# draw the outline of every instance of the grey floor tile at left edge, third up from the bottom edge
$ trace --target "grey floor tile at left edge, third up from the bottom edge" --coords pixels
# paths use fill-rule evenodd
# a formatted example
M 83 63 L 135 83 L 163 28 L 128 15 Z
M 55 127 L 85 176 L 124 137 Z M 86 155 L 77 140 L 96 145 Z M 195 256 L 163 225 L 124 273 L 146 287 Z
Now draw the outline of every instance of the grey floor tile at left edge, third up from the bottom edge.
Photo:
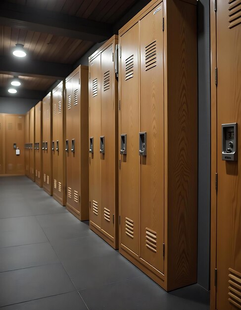
M 0 272 L 57 262 L 59 260 L 48 242 L 0 249 Z

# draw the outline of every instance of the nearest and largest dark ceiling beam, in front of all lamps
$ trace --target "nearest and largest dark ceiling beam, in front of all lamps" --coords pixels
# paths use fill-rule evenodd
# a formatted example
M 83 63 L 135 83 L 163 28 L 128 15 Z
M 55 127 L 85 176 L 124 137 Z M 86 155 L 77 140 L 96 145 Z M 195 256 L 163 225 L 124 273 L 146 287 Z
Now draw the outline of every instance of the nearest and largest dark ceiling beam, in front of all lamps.
M 106 23 L 4 0 L 0 1 L 0 24 L 92 42 L 104 41 L 112 35 L 110 25 Z

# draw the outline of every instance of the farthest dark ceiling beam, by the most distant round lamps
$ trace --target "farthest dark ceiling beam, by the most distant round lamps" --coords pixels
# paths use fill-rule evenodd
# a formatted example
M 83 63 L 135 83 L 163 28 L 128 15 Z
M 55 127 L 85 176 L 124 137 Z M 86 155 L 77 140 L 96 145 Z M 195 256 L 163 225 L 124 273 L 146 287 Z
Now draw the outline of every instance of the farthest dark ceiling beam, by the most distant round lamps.
M 18 88 L 16 94 L 9 94 L 7 89 L 8 87 L 0 87 L 0 97 L 42 100 L 47 94 L 44 91 L 36 91 L 23 88 Z

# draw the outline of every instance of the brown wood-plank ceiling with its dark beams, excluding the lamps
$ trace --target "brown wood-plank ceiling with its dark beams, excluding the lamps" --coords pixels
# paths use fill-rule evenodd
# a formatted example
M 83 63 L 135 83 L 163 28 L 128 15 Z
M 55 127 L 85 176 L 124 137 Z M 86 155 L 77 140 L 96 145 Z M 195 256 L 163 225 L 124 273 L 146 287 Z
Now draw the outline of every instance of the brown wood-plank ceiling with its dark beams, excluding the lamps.
M 0 0 L 0 96 L 13 75 L 22 80 L 21 96 L 47 92 L 140 2 L 148 0 Z M 15 44 L 24 45 L 26 58 L 12 56 Z

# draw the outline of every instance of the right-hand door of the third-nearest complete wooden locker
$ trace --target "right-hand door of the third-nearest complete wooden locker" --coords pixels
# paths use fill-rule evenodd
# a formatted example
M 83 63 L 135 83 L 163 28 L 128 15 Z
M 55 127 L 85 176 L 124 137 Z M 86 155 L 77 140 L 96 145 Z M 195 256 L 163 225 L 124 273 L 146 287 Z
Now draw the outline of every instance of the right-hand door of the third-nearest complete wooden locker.
M 74 152 L 71 151 L 72 159 L 72 207 L 75 212 L 80 214 L 80 182 L 81 182 L 81 169 L 80 169 L 80 73 L 77 72 L 73 77 L 72 94 L 73 94 L 73 106 L 72 106 L 72 133 L 70 146 L 74 148 Z M 83 86 L 84 88 L 84 86 Z M 73 142 L 72 142 L 73 140 Z M 83 193 L 84 195 L 84 193 Z

